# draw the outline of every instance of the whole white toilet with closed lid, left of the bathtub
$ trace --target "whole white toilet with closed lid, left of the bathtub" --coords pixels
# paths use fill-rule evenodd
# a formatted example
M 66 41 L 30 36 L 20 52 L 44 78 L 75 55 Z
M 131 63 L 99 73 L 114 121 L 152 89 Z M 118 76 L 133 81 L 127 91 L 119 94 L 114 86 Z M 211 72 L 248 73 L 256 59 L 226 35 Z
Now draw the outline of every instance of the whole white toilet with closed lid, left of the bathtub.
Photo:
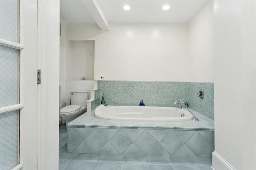
M 88 92 L 83 90 L 72 90 L 70 92 L 70 106 L 60 109 L 60 116 L 68 123 L 78 116 L 86 112 L 86 101 L 88 100 Z

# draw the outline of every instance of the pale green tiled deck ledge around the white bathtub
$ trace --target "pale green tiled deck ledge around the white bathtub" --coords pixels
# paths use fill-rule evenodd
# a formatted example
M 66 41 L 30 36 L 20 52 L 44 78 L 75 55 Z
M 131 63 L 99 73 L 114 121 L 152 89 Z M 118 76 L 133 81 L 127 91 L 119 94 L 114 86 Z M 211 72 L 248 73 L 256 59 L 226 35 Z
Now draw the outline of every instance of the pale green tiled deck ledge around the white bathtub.
M 112 128 L 112 129 L 163 129 L 163 130 L 182 130 L 182 131 L 214 131 L 214 121 L 208 117 L 194 111 L 190 111 L 200 121 L 120 121 L 100 119 L 94 116 L 95 109 L 86 112 L 68 123 L 68 129 L 71 127 L 79 128 Z

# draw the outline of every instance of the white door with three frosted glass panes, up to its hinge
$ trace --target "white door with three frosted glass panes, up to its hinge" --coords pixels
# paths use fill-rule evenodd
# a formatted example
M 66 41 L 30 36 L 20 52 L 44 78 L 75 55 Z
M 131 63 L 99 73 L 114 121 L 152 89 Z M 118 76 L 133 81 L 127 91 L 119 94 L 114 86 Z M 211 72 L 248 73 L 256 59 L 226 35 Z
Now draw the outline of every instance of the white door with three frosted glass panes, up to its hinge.
M 0 169 L 36 169 L 36 1 L 1 0 Z

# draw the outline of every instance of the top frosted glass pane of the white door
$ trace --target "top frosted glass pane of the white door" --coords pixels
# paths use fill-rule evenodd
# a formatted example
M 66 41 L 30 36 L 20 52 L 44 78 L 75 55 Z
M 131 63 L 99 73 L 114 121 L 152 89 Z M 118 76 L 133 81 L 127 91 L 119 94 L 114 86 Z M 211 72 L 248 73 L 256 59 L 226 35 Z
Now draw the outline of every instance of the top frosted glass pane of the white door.
M 0 0 L 0 38 L 19 43 L 19 1 Z

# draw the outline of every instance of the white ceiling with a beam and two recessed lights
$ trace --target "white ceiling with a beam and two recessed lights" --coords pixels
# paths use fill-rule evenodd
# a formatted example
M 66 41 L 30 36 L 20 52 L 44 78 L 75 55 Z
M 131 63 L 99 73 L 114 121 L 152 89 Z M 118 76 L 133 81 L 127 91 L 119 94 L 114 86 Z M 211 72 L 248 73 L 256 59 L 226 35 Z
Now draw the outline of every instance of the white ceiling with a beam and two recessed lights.
M 108 23 L 187 23 L 206 1 L 60 0 L 60 20 L 66 23 L 97 23 L 99 26 L 105 24 L 106 28 Z M 162 10 L 166 4 L 170 9 Z M 124 5 L 131 9 L 124 10 Z

